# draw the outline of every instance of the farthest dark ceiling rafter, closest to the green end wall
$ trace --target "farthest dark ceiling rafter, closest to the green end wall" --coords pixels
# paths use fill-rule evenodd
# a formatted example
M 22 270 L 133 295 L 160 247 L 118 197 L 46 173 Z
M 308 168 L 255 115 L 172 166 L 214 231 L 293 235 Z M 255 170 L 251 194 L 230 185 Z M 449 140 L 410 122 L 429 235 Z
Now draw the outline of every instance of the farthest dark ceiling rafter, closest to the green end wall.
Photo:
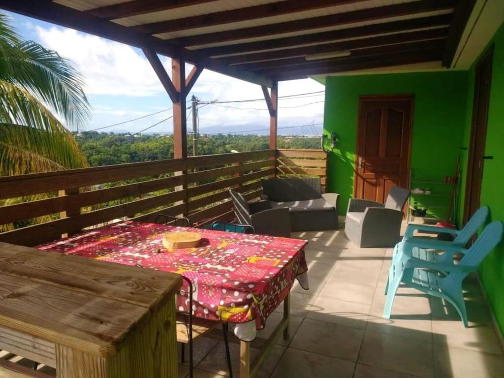
M 338 72 L 357 71 L 365 69 L 373 69 L 380 67 L 392 67 L 400 65 L 409 65 L 414 63 L 423 63 L 428 61 L 441 60 L 443 57 L 443 49 L 433 49 L 424 51 L 422 54 L 409 51 L 406 53 L 394 53 L 390 55 L 379 55 L 375 58 L 365 60 L 356 59 L 354 61 L 346 61 L 344 63 L 329 63 L 320 65 L 317 68 L 302 69 L 302 70 L 287 70 L 283 69 L 280 73 L 274 72 L 274 77 L 277 80 L 295 80 L 306 78 L 311 75 L 334 74 Z

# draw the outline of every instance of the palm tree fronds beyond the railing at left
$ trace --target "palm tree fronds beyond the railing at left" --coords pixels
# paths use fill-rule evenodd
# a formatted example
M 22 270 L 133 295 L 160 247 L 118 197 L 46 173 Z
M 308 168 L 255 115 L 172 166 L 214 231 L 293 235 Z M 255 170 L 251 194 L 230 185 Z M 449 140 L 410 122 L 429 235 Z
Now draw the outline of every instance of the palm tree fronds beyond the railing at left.
M 0 14 L 0 176 L 88 166 L 70 131 L 90 118 L 82 76 Z

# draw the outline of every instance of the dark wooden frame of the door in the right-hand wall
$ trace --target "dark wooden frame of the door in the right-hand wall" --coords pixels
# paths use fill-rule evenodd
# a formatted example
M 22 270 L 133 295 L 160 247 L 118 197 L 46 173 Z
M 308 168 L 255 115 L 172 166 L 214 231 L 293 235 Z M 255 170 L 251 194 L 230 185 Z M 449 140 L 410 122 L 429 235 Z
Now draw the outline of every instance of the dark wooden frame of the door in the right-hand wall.
M 477 100 L 479 99 L 480 96 L 480 88 L 479 86 L 476 86 L 476 83 L 479 82 L 480 80 L 480 71 L 479 68 L 481 67 L 483 61 L 488 58 L 489 56 L 492 58 L 491 65 L 490 65 L 490 75 L 493 73 L 493 47 L 494 45 L 492 44 L 481 56 L 481 58 L 478 60 L 476 67 L 475 67 L 475 75 L 474 75 L 474 90 L 473 90 L 473 104 L 472 104 L 472 118 L 471 118 L 471 136 L 469 139 L 469 150 L 468 150 L 468 157 L 467 157 L 467 169 L 466 169 L 466 186 L 465 186 L 465 194 L 464 194 L 464 216 L 462 219 L 462 224 L 466 224 L 467 221 L 470 218 L 469 215 L 469 208 L 470 208 L 470 199 L 472 196 L 472 184 L 473 184 L 473 169 L 474 165 L 476 164 L 475 161 L 475 143 L 476 143 L 476 121 L 477 121 L 477 114 L 476 114 L 476 106 L 477 106 Z M 490 81 L 490 89 L 491 89 L 491 81 Z M 490 93 L 488 94 L 488 99 L 490 99 Z M 488 107 L 490 106 L 490 101 L 488 101 Z M 488 109 L 487 109 L 488 112 Z M 486 119 L 486 125 L 485 125 L 485 148 L 486 148 L 486 128 L 488 127 L 488 115 Z M 479 202 L 480 199 L 478 199 Z

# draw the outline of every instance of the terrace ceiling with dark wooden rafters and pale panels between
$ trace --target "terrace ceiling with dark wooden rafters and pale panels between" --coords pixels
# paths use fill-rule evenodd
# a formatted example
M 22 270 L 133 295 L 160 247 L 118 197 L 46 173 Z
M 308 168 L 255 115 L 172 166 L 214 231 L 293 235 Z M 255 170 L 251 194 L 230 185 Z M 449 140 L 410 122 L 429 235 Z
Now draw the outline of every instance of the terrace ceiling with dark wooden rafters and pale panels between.
M 450 68 L 474 3 L 0 0 L 0 7 L 272 87 L 276 80 L 432 61 Z

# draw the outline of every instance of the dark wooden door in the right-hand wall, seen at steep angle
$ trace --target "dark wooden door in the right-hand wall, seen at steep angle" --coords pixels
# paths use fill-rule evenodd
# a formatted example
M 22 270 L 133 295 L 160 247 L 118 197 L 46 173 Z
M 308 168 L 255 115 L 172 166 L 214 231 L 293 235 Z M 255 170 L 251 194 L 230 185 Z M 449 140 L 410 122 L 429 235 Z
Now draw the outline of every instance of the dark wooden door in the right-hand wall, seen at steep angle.
M 493 53 L 492 49 L 490 49 L 476 66 L 464 223 L 479 208 L 481 180 L 483 178 L 483 157 L 485 155 L 486 125 L 488 122 L 488 105 L 490 102 L 490 83 L 492 80 L 492 58 Z

